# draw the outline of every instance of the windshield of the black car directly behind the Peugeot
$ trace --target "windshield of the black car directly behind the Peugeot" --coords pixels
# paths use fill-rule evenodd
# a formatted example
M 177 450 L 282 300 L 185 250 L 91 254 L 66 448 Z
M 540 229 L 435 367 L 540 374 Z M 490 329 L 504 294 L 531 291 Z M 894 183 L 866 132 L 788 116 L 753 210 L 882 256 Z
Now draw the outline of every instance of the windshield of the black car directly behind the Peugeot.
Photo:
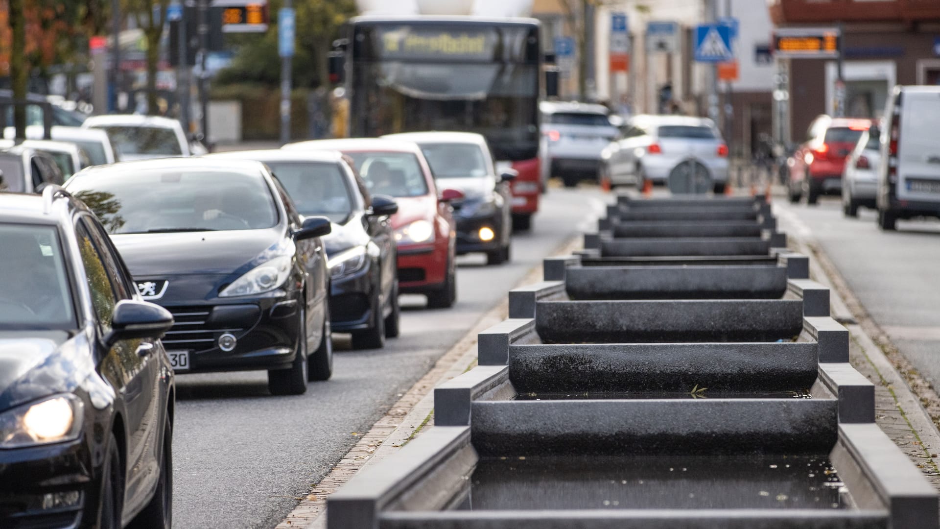
M 352 214 L 352 195 L 337 164 L 328 162 L 267 162 L 297 211 L 338 220 Z

